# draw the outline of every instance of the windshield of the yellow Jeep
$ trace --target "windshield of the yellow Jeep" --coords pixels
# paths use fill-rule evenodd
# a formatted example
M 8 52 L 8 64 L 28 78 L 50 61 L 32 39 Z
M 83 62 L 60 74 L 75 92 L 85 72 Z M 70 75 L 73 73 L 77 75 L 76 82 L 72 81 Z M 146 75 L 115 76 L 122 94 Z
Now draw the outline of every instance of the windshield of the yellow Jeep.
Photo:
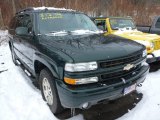
M 112 18 L 110 19 L 110 25 L 113 30 L 121 28 L 136 29 L 132 19 Z

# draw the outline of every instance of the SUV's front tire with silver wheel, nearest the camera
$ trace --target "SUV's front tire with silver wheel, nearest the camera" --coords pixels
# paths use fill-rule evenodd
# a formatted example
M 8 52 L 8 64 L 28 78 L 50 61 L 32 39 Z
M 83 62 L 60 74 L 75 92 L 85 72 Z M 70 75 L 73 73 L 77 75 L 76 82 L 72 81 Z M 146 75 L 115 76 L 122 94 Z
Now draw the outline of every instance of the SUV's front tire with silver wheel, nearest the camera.
M 39 83 L 43 99 L 47 102 L 53 114 L 63 110 L 57 94 L 55 80 L 48 69 L 43 69 L 40 72 Z

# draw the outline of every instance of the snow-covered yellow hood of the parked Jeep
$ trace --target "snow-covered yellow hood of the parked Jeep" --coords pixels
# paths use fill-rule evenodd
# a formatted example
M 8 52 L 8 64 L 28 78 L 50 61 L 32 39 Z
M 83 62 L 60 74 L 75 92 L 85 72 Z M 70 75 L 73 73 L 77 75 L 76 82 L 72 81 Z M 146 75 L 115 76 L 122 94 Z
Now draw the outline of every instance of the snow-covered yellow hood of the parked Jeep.
M 145 41 L 159 40 L 160 41 L 159 35 L 143 33 L 138 30 L 126 30 L 126 31 L 116 30 L 113 32 L 113 34 L 131 39 L 131 40 L 145 40 Z

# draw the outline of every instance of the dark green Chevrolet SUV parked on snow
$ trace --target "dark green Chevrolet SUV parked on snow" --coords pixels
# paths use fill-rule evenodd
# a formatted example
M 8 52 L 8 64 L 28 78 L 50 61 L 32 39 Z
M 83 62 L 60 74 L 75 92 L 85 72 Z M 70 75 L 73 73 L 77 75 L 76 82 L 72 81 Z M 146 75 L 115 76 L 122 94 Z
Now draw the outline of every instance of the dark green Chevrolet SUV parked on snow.
M 39 83 L 53 113 L 129 94 L 149 71 L 143 45 L 104 36 L 81 12 L 21 10 L 11 20 L 9 33 L 13 62 Z

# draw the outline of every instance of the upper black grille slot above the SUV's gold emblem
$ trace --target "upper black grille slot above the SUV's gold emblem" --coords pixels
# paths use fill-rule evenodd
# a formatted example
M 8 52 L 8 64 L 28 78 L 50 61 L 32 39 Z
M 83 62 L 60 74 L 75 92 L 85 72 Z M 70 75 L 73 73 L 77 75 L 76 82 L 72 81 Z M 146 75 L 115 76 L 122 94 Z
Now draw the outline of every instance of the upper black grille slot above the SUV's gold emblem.
M 114 67 L 114 66 L 124 65 L 124 64 L 134 62 L 134 61 L 140 59 L 141 57 L 142 57 L 142 54 L 138 54 L 138 55 L 134 55 L 131 57 L 122 58 L 122 59 L 118 59 L 118 60 L 100 62 L 99 65 L 101 68 L 109 68 L 109 67 Z

